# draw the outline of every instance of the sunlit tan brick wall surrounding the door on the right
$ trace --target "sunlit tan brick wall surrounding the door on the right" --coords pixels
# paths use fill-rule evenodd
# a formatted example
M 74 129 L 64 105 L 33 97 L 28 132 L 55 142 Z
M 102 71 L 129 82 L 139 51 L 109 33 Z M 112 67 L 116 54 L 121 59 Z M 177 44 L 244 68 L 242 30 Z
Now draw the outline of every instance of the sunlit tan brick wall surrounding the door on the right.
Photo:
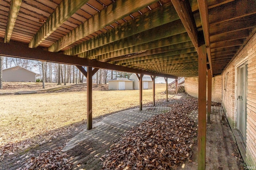
M 247 129 L 246 129 L 246 164 L 256 166 L 256 34 L 238 53 L 232 63 L 222 72 L 223 82 L 228 74 L 224 101 L 228 121 L 236 128 L 236 69 L 240 64 L 248 64 L 247 90 Z M 223 84 L 224 86 L 224 84 Z M 224 90 L 224 88 L 223 88 Z M 224 93 L 223 93 L 224 94 Z

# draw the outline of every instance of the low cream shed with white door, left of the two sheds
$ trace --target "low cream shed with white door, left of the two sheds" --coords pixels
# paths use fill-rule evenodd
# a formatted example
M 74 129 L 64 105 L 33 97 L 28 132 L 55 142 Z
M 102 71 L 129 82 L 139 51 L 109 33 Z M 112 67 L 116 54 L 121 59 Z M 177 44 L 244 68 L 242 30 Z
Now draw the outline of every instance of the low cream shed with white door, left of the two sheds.
M 109 90 L 132 90 L 132 82 L 133 80 L 129 80 L 128 78 L 113 78 L 108 80 L 108 89 Z

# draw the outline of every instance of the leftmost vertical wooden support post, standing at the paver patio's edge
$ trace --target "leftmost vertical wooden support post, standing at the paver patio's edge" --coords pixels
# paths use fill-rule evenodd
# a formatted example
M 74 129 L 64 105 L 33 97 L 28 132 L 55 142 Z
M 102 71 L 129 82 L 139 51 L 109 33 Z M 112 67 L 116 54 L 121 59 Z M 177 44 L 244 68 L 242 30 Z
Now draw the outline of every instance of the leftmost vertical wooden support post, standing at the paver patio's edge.
M 87 66 L 87 129 L 92 129 L 92 67 Z

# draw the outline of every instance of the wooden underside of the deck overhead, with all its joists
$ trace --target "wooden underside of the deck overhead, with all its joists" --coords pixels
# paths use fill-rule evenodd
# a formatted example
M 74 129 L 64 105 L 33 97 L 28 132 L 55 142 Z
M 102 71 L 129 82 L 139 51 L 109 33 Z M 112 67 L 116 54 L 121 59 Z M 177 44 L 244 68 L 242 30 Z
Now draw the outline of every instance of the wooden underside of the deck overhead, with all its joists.
M 221 74 L 256 32 L 255 0 L 11 2 L 0 1 L 0 55 L 169 78 L 198 75 L 202 44 Z

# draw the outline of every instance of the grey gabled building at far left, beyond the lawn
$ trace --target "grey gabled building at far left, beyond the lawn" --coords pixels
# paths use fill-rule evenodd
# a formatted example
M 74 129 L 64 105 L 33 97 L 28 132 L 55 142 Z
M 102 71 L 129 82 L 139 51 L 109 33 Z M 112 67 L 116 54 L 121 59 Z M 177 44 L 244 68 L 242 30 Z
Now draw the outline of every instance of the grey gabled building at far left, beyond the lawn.
M 21 66 L 14 66 L 3 69 L 3 82 L 36 82 L 35 72 L 27 70 Z

